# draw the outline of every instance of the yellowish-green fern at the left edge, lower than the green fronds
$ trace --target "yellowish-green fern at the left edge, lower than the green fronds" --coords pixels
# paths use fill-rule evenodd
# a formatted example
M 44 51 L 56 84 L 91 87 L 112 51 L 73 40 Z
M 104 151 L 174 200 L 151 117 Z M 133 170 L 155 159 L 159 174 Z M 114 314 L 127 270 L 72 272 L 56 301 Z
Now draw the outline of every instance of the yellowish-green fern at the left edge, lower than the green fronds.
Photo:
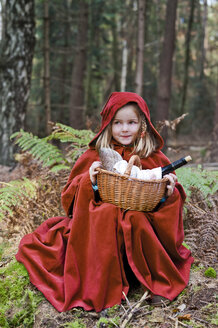
M 19 205 L 26 198 L 36 197 L 37 184 L 27 178 L 15 180 L 10 183 L 0 182 L 0 219 L 3 219 L 6 213 L 13 215 L 12 207 Z

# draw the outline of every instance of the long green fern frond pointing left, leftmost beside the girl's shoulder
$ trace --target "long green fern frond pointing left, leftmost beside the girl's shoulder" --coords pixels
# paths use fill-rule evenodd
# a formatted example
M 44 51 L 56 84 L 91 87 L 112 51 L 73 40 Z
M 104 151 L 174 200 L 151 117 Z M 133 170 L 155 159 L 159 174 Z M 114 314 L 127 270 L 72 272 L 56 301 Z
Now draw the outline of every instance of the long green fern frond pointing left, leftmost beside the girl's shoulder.
M 60 149 L 48 142 L 48 138 L 38 138 L 32 133 L 20 130 L 11 136 L 23 151 L 28 151 L 35 159 L 42 162 L 43 166 L 64 165 L 69 169 L 69 163 Z

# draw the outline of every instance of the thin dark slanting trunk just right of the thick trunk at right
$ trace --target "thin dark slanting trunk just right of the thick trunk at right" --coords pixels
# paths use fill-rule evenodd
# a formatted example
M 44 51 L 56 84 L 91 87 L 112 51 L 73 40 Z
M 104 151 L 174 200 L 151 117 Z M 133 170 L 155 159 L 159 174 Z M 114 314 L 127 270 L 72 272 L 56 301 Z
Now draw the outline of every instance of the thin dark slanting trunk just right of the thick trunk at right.
M 195 2 L 196 0 L 191 0 L 191 8 L 190 8 L 190 16 L 188 21 L 188 29 L 186 34 L 186 41 L 185 41 L 185 64 L 184 64 L 184 78 L 183 78 L 183 87 L 182 87 L 182 101 L 179 116 L 184 113 L 184 107 L 186 102 L 186 94 L 187 94 L 187 87 L 188 87 L 188 70 L 189 70 L 189 62 L 190 62 L 190 41 L 191 41 L 191 32 L 192 32 L 192 25 L 194 19 L 194 9 L 195 9 Z

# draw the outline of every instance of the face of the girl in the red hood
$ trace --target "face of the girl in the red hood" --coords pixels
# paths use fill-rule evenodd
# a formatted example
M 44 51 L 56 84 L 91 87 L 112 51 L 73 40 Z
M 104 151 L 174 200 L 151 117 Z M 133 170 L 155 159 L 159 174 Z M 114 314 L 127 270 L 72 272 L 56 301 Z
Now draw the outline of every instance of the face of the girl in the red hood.
M 141 120 L 134 105 L 120 108 L 112 121 L 112 136 L 122 145 L 130 145 L 136 140 Z

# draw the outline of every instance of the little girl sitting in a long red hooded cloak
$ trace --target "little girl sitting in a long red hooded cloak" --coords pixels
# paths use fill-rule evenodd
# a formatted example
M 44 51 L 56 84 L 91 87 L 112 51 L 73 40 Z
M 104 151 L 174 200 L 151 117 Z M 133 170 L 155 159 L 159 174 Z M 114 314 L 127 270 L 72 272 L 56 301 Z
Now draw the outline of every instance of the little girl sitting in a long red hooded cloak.
M 193 262 L 182 245 L 185 193 L 174 174 L 168 175 L 165 199 L 151 212 L 123 210 L 95 197 L 102 147 L 127 161 L 139 155 L 142 169 L 169 164 L 140 96 L 114 92 L 101 115 L 99 133 L 62 192 L 67 217 L 50 218 L 26 235 L 16 255 L 60 312 L 73 307 L 98 312 L 120 304 L 133 277 L 150 291 L 153 305 L 170 302 L 186 287 Z

